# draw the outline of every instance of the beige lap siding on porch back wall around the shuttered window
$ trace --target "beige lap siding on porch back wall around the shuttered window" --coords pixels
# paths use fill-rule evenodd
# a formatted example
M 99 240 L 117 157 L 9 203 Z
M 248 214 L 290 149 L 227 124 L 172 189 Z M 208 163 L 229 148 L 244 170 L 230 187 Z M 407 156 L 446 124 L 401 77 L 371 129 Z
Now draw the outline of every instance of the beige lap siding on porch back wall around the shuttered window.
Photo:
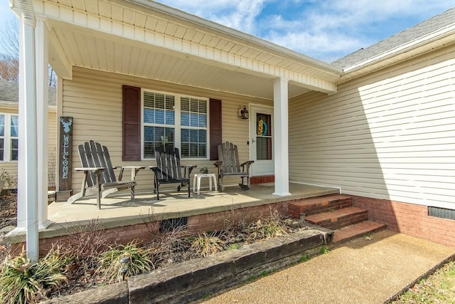
M 249 103 L 272 104 L 270 100 L 75 67 L 73 80 L 63 80 L 63 115 L 74 117 L 73 167 L 80 166 L 77 145 L 87 140 L 99 141 L 107 146 L 112 163 L 116 166 L 154 164 L 154 160 L 122 162 L 122 85 L 222 100 L 223 141 L 231 141 L 239 146 L 240 161 L 249 159 L 247 146 L 249 120 L 242 120 L 239 117 L 240 106 Z M 205 159 L 182 159 L 182 164 L 197 164 L 198 167 L 193 170 L 196 173 L 200 167 L 208 167 L 209 172 L 215 173 L 213 163 L 214 161 Z M 125 174 L 125 177 L 129 177 L 130 173 Z M 82 174 L 73 173 L 73 189 L 80 189 L 81 182 Z M 202 182 L 202 187 L 208 186 L 208 179 L 203 179 Z M 234 183 L 238 183 L 237 179 L 226 179 L 225 184 Z M 173 185 L 169 187 L 175 188 Z M 153 173 L 150 169 L 139 172 L 137 189 L 138 191 L 153 189 Z

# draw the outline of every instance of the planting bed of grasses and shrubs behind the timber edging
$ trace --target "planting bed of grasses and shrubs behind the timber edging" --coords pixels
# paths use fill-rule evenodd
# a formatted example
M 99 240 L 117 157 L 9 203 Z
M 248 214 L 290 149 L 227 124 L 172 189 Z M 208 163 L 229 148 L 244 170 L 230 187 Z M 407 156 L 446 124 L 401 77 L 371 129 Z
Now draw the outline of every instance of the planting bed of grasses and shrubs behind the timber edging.
M 0 302 L 36 303 L 41 298 L 70 295 L 191 258 L 240 248 L 244 243 L 286 236 L 291 230 L 289 219 L 276 209 L 270 209 L 261 220 L 250 219 L 250 209 L 226 211 L 223 231 L 196 236 L 189 234 L 186 225 L 158 225 L 155 221 L 147 226 L 152 236 L 149 243 L 118 246 L 108 246 L 97 219 L 85 226 L 65 224 L 71 237 L 58 243 L 60 251 L 50 251 L 36 264 L 26 260 L 24 253 L 11 258 L 8 247 L 0 247 L 0 256 L 8 256 L 0 270 Z M 129 258 L 124 276 L 119 263 L 122 257 Z M 63 286 L 65 282 L 68 284 Z

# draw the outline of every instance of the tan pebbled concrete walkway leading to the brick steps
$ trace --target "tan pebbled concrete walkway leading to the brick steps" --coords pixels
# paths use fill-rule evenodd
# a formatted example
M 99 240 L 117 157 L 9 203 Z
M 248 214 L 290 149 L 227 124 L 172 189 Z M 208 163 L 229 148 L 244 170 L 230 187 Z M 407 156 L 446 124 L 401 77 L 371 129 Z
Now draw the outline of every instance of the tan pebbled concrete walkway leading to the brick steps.
M 454 254 L 385 230 L 200 303 L 384 303 Z

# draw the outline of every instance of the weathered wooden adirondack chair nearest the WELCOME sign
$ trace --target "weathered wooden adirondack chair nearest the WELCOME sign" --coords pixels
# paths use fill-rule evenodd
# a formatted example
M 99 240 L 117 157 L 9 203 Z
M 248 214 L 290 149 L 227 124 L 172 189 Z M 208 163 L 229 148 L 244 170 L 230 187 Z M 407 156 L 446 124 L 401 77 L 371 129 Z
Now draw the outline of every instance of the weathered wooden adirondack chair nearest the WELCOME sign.
M 97 194 L 97 206 L 98 209 L 101 209 L 102 197 L 104 198 L 108 194 L 124 189 L 130 189 L 131 201 L 134 201 L 134 187 L 136 186 L 134 179 L 137 172 L 140 169 L 144 169 L 145 166 L 120 167 L 117 181 L 114 174 L 114 169 L 117 169 L 117 167 L 112 167 L 107 147 L 102 146 L 99 142 L 90 140 L 90 142 L 79 145 L 78 152 L 82 167 L 75 168 L 75 170 L 84 172 L 84 179 L 82 179 L 80 192 L 70 196 L 68 202 L 73 204 L 73 202 L 83 196 Z M 132 169 L 131 180 L 122 181 L 124 169 Z

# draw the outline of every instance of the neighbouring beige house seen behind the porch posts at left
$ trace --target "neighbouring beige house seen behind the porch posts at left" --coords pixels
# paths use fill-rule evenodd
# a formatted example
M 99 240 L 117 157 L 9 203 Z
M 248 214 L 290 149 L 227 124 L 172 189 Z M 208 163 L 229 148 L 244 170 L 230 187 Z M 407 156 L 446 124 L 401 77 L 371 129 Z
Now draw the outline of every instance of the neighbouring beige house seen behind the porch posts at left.
M 17 179 L 18 165 L 18 100 L 19 85 L 0 80 L 0 173 L 6 172 Z M 55 187 L 55 142 L 56 142 L 56 103 L 55 88 L 48 89 L 49 98 L 49 186 Z M 16 184 L 5 184 L 4 188 L 13 189 Z

